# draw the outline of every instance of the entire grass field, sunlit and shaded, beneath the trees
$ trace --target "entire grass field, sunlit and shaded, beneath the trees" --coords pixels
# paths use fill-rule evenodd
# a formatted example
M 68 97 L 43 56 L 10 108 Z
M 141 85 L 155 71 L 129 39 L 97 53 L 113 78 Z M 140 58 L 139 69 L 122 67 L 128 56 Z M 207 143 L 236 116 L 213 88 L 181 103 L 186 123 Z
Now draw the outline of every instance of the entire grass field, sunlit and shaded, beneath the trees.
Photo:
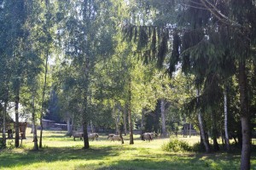
M 171 153 L 161 150 L 168 139 L 154 139 L 148 143 L 135 135 L 135 144 L 110 142 L 107 135 L 100 135 L 98 141 L 90 141 L 90 149 L 83 150 L 83 142 L 65 137 L 65 132 L 44 131 L 44 148 L 32 151 L 32 134 L 27 129 L 27 139 L 22 147 L 15 149 L 8 140 L 9 148 L 0 150 L 0 169 L 239 169 L 240 152 L 226 154 Z M 179 139 L 183 139 L 179 137 Z M 189 144 L 198 142 L 198 137 L 185 138 Z M 252 169 L 256 170 L 256 154 L 252 153 Z

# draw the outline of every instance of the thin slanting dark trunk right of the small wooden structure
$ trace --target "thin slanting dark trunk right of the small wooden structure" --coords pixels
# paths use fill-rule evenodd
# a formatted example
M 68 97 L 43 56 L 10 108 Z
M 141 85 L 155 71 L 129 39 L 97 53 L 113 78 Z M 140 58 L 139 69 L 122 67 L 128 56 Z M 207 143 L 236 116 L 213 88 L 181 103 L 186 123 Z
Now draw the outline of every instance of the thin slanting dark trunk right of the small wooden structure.
M 42 94 L 42 109 L 40 114 L 40 139 L 39 139 L 39 148 L 42 148 L 42 140 L 43 140 L 43 115 L 44 115 L 44 96 L 46 90 L 46 81 L 47 81 L 47 73 L 48 73 L 48 55 L 49 52 L 46 53 L 45 65 L 44 65 L 44 87 L 43 87 L 43 94 Z

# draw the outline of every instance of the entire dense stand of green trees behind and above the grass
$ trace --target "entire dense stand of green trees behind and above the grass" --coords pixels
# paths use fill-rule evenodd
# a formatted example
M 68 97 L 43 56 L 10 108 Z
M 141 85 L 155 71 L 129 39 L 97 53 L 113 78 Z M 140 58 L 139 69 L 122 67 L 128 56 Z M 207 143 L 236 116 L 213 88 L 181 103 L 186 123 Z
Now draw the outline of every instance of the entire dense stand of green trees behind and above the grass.
M 254 0 L 0 0 L 0 124 L 9 104 L 30 115 L 34 149 L 43 118 L 159 133 L 183 125 L 206 152 L 241 147 L 250 168 L 256 131 Z M 36 127 L 40 127 L 38 134 Z M 212 144 L 210 144 L 210 140 Z

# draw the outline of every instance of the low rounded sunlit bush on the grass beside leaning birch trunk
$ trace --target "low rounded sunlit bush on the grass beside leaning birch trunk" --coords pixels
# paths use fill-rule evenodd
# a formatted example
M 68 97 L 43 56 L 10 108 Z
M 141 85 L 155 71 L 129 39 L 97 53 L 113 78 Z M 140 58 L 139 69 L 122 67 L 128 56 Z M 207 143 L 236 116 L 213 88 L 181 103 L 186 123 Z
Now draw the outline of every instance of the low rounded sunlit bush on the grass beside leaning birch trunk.
M 191 147 L 189 144 L 183 140 L 170 139 L 167 144 L 162 145 L 162 150 L 166 151 L 190 151 Z

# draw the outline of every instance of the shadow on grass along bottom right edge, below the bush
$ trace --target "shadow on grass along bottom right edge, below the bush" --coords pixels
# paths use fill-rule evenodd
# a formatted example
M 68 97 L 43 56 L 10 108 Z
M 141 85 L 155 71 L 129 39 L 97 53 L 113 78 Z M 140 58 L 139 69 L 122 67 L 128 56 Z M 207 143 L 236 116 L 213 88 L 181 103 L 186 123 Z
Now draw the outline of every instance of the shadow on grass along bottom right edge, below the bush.
M 155 156 L 139 156 L 136 159 L 115 161 L 111 165 L 98 167 L 91 167 L 91 169 L 97 170 L 140 170 L 140 169 L 239 169 L 238 162 L 230 157 L 227 160 L 217 160 L 214 156 L 207 156 L 207 159 L 201 159 L 205 155 L 175 155 L 170 154 L 170 159 L 160 159 L 160 155 Z M 75 169 L 84 169 L 83 165 L 76 166 Z M 88 165 L 87 165 L 88 168 Z M 90 169 L 90 168 L 89 168 Z

